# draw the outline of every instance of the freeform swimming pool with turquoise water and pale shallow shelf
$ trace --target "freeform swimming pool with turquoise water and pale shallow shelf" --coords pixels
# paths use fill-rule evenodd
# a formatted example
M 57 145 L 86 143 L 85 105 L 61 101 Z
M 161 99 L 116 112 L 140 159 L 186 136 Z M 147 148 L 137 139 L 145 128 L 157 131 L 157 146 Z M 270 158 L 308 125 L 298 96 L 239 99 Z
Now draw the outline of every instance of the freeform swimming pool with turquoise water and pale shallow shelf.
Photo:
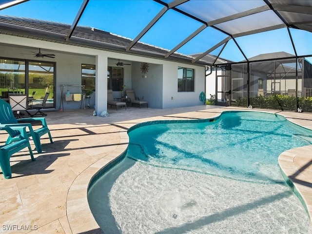
M 277 158 L 311 144 L 284 117 L 150 122 L 129 131 L 126 158 L 89 189 L 105 233 L 311 233 Z

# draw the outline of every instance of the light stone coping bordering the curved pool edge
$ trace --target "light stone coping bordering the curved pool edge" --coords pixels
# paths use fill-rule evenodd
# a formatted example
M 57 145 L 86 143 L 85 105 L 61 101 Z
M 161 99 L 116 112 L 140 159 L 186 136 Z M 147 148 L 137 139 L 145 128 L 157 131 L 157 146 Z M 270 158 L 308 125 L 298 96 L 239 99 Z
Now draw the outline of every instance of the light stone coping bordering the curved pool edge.
M 295 118 L 287 117 L 289 113 L 280 113 L 279 111 L 273 110 L 246 110 L 246 109 L 224 109 L 220 112 L 224 111 L 256 111 L 256 112 L 264 112 L 271 114 L 278 114 L 283 117 L 286 117 L 290 122 L 293 122 L 299 126 Z M 203 111 L 205 112 L 205 111 Z M 219 117 L 221 113 L 216 113 L 215 117 Z M 286 114 L 286 115 L 285 115 Z M 209 117 L 210 118 L 210 117 Z M 167 118 L 168 119 L 168 118 Z M 187 117 L 185 117 L 187 119 Z M 131 128 L 138 123 L 147 122 L 153 120 L 162 120 L 160 119 L 149 119 L 149 120 L 141 120 L 136 123 L 128 123 L 127 127 Z M 173 118 L 173 120 L 175 120 Z M 303 126 L 304 127 L 304 126 Z M 307 127 L 306 127 L 307 128 Z M 89 207 L 88 199 L 87 199 L 87 191 L 90 182 L 97 176 L 98 172 L 106 167 L 109 163 L 114 161 L 116 158 L 121 156 L 127 149 L 129 143 L 129 137 L 127 131 L 124 129 L 119 130 L 120 141 L 117 145 L 117 148 L 110 153 L 109 155 L 103 155 L 98 161 L 87 167 L 83 172 L 81 172 L 76 179 L 73 181 L 70 189 L 68 190 L 67 198 L 66 198 L 66 213 L 69 226 L 73 234 L 78 233 L 90 233 L 100 234 L 103 231 L 98 226 L 94 216 Z M 281 168 L 281 171 L 289 178 L 291 183 L 293 184 L 295 190 L 301 196 L 304 205 L 306 206 L 308 215 L 312 217 L 312 179 L 307 177 L 307 174 L 312 172 L 312 157 L 309 159 L 307 157 L 307 152 L 311 154 L 312 145 L 294 148 L 288 151 L 283 152 L 278 157 L 278 163 Z M 310 176 L 310 178 L 312 178 Z M 296 195 L 298 195 L 296 194 Z M 299 198 L 300 198 L 299 196 Z

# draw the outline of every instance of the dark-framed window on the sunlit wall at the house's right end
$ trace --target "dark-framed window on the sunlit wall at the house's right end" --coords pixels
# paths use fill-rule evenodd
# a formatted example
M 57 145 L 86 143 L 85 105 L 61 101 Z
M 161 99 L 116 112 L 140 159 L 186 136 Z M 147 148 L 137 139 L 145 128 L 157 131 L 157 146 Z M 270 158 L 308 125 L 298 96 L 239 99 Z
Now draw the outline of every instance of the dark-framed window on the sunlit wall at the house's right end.
M 194 69 L 177 68 L 177 91 L 194 92 Z

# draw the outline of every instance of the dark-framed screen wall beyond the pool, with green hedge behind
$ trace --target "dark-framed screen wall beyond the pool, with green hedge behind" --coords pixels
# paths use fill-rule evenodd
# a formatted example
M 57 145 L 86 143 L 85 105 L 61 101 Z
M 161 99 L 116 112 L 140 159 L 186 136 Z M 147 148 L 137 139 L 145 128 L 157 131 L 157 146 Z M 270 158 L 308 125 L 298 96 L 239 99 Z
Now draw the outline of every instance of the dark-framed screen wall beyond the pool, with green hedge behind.
M 305 58 L 216 66 L 216 104 L 312 112 L 312 64 Z

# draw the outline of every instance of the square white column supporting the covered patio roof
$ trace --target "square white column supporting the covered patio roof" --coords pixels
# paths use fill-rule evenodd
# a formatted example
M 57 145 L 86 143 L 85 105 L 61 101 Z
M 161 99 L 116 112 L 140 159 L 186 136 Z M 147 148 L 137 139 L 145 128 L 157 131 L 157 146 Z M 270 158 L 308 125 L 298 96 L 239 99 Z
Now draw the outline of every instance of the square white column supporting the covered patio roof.
M 107 56 L 96 56 L 96 112 L 100 115 L 107 111 Z

